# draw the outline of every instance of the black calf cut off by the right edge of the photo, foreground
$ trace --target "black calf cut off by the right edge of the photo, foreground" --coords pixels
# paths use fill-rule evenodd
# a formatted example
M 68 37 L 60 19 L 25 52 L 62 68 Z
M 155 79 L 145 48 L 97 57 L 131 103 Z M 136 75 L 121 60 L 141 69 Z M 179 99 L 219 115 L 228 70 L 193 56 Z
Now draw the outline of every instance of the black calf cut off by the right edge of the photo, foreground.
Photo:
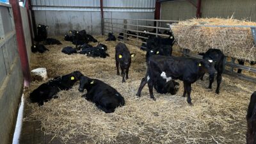
M 246 143 L 255 144 L 256 143 L 256 91 L 252 93 L 250 104 L 248 106 L 246 120 L 247 120 Z

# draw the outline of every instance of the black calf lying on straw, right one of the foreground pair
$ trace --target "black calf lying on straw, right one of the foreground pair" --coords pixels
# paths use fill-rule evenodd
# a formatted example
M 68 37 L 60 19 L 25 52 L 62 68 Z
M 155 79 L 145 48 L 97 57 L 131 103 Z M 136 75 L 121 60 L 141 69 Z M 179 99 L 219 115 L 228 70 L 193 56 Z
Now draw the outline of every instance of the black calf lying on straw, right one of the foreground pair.
M 86 76 L 81 77 L 79 92 L 83 92 L 84 88 L 87 93 L 82 97 L 94 102 L 105 113 L 113 113 L 115 108 L 125 104 L 124 97 L 115 88 L 98 79 L 90 79 Z

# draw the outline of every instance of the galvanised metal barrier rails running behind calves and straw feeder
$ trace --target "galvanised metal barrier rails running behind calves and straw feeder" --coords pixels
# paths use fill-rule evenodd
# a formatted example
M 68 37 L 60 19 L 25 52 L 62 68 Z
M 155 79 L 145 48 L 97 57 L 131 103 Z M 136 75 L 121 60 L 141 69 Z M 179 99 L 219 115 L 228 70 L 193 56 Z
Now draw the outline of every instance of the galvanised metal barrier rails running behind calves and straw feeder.
M 103 35 L 108 35 L 108 33 L 113 33 L 116 38 L 122 37 L 122 39 L 117 38 L 118 40 L 122 40 L 124 43 L 126 44 L 131 44 L 131 45 L 136 45 L 137 47 L 141 47 L 141 44 L 146 44 L 146 42 L 143 40 L 141 40 L 141 38 L 144 38 L 147 40 L 147 37 L 145 36 L 141 36 L 140 33 L 147 33 L 150 35 L 156 35 L 157 36 L 169 36 L 169 35 L 165 35 L 165 34 L 161 34 L 163 33 L 163 31 L 167 30 L 170 31 L 170 28 L 168 28 L 168 26 L 166 24 L 173 24 L 175 22 L 179 22 L 177 20 L 152 20 L 152 19 L 109 19 L 109 18 L 104 18 L 102 20 L 103 24 L 103 28 L 102 28 L 102 33 Z M 230 26 L 232 27 L 232 26 Z M 248 27 L 248 26 L 244 26 L 244 27 Z M 147 31 L 145 31 L 147 29 Z M 154 32 L 150 32 L 148 31 L 148 29 L 153 29 Z M 252 34 L 253 34 L 253 38 L 256 41 L 256 32 L 253 33 L 253 31 L 255 31 L 255 28 L 251 28 L 252 29 Z M 127 31 L 132 31 L 135 32 L 136 35 L 131 35 L 129 33 L 127 33 Z M 159 31 L 161 31 L 161 33 L 159 33 Z M 123 36 L 120 36 L 119 33 L 124 33 Z M 134 36 L 136 38 L 129 38 L 129 36 Z M 255 42 L 256 44 L 256 42 Z M 191 54 L 188 49 L 186 49 L 185 47 L 182 47 L 182 51 L 178 51 L 178 52 L 182 52 L 183 56 L 189 56 L 192 58 L 198 58 L 198 59 L 202 59 L 202 56 L 198 55 L 198 54 Z M 234 71 L 234 68 L 239 68 L 241 70 L 246 70 L 249 73 L 255 74 L 256 76 L 256 68 L 253 68 L 252 66 L 248 67 L 245 65 L 239 65 L 237 63 L 235 63 L 236 59 L 235 58 L 230 58 L 231 61 L 227 61 L 227 57 L 225 57 L 224 59 L 224 74 L 228 74 L 230 76 L 233 77 L 238 77 L 239 79 L 244 79 L 246 81 L 252 81 L 254 83 L 256 83 L 256 77 L 253 76 L 247 76 L 244 74 L 237 74 L 237 72 Z

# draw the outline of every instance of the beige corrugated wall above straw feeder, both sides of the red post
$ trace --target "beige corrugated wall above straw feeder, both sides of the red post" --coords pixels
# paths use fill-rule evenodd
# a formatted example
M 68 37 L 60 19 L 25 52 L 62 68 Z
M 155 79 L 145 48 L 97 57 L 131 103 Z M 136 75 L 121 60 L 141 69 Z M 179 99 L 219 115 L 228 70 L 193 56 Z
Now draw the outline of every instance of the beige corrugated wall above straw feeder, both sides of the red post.
M 193 0 L 197 4 L 197 0 Z M 202 0 L 202 17 L 231 17 L 256 21 L 255 0 Z M 196 17 L 196 8 L 188 1 L 161 2 L 161 19 L 186 20 Z

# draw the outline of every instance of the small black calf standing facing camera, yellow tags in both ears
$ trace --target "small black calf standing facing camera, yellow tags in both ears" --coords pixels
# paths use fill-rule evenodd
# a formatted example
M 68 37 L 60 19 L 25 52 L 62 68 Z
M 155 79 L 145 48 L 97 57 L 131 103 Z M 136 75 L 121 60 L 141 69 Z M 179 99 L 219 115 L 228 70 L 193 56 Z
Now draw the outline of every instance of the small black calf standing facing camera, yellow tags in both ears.
M 119 64 L 120 64 L 120 68 L 121 68 L 121 74 L 123 77 L 122 82 L 125 82 L 125 79 L 128 79 L 128 73 L 129 73 L 129 67 L 131 66 L 131 57 L 134 57 L 135 54 L 130 54 L 129 49 L 126 47 L 125 44 L 122 43 L 118 43 L 116 45 L 116 54 L 115 54 L 115 58 L 116 58 L 116 70 L 117 70 L 117 75 L 120 75 L 119 72 Z M 126 74 L 126 77 L 125 77 Z M 125 79 L 124 79 L 125 77 Z

